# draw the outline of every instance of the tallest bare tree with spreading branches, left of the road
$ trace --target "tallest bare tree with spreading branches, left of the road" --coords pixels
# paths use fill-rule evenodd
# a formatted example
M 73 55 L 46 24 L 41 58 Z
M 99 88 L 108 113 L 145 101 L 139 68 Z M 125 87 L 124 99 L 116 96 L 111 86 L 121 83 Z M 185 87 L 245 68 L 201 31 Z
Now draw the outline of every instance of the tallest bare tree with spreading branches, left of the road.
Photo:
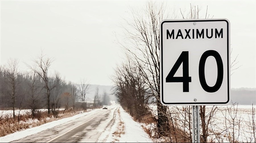
M 47 107 L 48 107 L 48 114 L 50 114 L 50 93 L 51 90 L 55 87 L 53 86 L 49 86 L 49 76 L 48 76 L 48 70 L 49 67 L 51 66 L 51 63 L 53 62 L 53 58 L 48 58 L 45 55 L 43 55 L 43 53 L 41 53 L 41 56 L 38 57 L 38 59 L 34 60 L 34 63 L 36 64 L 34 67 L 29 66 L 28 67 L 36 72 L 44 81 L 44 88 L 47 90 Z

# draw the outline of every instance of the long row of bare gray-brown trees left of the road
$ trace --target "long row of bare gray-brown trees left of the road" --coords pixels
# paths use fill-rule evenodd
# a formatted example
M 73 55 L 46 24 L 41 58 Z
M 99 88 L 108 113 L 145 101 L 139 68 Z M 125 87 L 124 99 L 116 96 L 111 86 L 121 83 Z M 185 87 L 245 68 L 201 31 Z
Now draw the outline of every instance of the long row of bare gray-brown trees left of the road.
M 60 108 L 66 110 L 109 105 L 110 98 L 106 92 L 98 95 L 97 104 L 86 101 L 90 83 L 81 80 L 79 84 L 67 82 L 55 72 L 49 75 L 52 58 L 41 55 L 33 65 L 27 65 L 29 71 L 18 69 L 18 60 L 9 59 L 6 65 L 0 66 L 0 109 L 31 109 L 32 117 L 38 109 L 48 109 L 48 114 L 57 117 Z

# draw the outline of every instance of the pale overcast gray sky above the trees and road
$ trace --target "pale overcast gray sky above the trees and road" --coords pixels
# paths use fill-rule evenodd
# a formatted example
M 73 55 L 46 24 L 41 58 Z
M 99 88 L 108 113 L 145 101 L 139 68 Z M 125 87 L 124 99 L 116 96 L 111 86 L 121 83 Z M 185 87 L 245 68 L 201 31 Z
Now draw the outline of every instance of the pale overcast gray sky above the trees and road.
M 144 8 L 147 1 L 2 1 L 1 65 L 8 58 L 24 63 L 41 53 L 54 57 L 52 70 L 67 81 L 112 85 L 113 69 L 122 60 L 116 35 L 129 16 L 129 7 Z M 242 65 L 231 76 L 231 87 L 256 86 L 256 20 L 255 1 L 168 1 L 166 7 L 189 10 L 199 5 L 203 18 L 227 18 L 231 25 L 231 57 L 238 56 Z M 178 13 L 179 16 L 180 13 Z M 232 58 L 231 58 L 232 59 Z

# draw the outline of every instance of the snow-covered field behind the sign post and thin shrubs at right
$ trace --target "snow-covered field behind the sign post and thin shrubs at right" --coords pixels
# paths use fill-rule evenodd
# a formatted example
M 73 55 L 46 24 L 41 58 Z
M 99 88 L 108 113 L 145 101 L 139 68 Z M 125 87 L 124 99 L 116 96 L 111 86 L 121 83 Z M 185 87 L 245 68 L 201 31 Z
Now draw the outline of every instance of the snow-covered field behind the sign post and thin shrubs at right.
M 188 119 L 188 116 L 186 116 L 185 119 L 184 114 L 182 114 L 184 113 L 183 107 L 185 106 L 169 106 L 173 118 L 176 118 L 177 121 L 180 122 L 180 125 L 183 124 L 184 120 Z M 212 107 L 213 106 L 206 106 L 206 121 L 208 120 L 208 113 Z M 253 105 L 253 108 L 255 109 L 256 106 Z M 156 105 L 150 106 L 150 109 L 152 109 L 154 115 L 157 114 Z M 208 140 L 213 140 L 213 142 L 232 142 L 233 138 L 231 136 L 234 136 L 235 142 L 236 140 L 238 142 L 254 142 L 253 129 L 251 127 L 253 119 L 252 105 L 217 106 L 216 112 L 214 113 L 208 125 L 210 130 Z M 255 110 L 254 114 L 256 114 Z M 255 116 L 254 120 L 256 120 Z

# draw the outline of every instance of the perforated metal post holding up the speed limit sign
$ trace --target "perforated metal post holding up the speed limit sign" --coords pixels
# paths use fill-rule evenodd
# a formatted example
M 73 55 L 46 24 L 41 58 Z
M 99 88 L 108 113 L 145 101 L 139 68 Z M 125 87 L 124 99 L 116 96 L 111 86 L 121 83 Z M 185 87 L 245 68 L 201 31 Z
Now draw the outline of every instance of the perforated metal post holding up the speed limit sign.
M 192 142 L 200 142 L 199 106 L 192 106 Z

